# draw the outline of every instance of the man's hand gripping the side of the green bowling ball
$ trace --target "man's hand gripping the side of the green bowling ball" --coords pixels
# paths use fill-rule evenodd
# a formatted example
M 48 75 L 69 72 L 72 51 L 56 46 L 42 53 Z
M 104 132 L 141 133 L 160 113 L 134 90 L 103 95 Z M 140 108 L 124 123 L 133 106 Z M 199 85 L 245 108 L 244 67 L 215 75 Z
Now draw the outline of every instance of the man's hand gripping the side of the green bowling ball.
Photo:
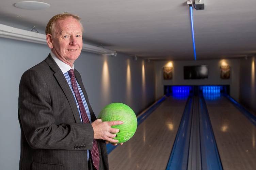
M 123 121 L 118 120 L 102 122 L 101 119 L 96 119 L 94 122 L 92 122 L 94 139 L 103 139 L 109 142 L 117 143 L 118 140 L 113 138 L 116 137 L 115 133 L 118 133 L 119 129 L 111 128 L 111 126 L 123 123 Z

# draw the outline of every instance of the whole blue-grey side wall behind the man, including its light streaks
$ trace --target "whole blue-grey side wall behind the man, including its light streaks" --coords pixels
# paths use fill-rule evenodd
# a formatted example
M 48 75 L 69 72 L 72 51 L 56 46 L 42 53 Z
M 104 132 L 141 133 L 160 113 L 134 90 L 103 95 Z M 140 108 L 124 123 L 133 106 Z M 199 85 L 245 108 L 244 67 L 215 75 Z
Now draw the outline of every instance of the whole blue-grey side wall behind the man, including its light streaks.
M 18 86 L 22 73 L 43 61 L 48 46 L 0 38 L 0 169 L 17 170 L 20 156 L 18 123 Z M 139 114 L 155 102 L 155 66 L 153 62 L 82 52 L 75 62 L 90 103 L 97 116 L 112 102 L 129 105 Z

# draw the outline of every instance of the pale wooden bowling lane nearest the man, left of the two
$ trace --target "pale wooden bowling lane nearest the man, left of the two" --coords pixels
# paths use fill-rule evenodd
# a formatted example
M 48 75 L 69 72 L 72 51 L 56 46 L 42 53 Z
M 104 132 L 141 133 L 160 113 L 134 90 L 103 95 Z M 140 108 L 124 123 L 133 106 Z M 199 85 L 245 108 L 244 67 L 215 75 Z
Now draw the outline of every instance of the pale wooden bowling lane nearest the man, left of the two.
M 108 156 L 111 170 L 164 170 L 186 105 L 167 97 L 137 128 L 134 136 Z

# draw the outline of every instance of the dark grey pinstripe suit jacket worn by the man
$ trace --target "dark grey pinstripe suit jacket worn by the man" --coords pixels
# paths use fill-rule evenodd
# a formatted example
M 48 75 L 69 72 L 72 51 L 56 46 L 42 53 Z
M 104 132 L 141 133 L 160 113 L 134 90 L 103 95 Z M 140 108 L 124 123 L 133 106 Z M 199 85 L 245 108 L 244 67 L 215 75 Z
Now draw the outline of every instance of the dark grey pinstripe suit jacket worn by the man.
M 81 76 L 76 79 L 96 120 Z M 93 128 L 81 123 L 70 87 L 52 57 L 27 70 L 19 85 L 20 170 L 85 170 Z M 100 169 L 108 168 L 105 141 L 97 140 Z

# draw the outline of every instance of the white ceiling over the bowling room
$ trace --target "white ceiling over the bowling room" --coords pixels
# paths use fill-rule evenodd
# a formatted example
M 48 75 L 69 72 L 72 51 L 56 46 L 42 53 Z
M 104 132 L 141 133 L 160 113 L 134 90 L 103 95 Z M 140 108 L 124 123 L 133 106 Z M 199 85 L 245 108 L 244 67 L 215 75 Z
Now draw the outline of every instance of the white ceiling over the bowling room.
M 0 0 L 1 24 L 44 33 L 53 15 L 69 12 L 82 18 L 84 43 L 150 60 L 194 60 L 186 0 L 42 0 L 51 5 L 44 10 L 16 2 Z M 205 0 L 193 20 L 197 60 L 256 55 L 255 0 Z

